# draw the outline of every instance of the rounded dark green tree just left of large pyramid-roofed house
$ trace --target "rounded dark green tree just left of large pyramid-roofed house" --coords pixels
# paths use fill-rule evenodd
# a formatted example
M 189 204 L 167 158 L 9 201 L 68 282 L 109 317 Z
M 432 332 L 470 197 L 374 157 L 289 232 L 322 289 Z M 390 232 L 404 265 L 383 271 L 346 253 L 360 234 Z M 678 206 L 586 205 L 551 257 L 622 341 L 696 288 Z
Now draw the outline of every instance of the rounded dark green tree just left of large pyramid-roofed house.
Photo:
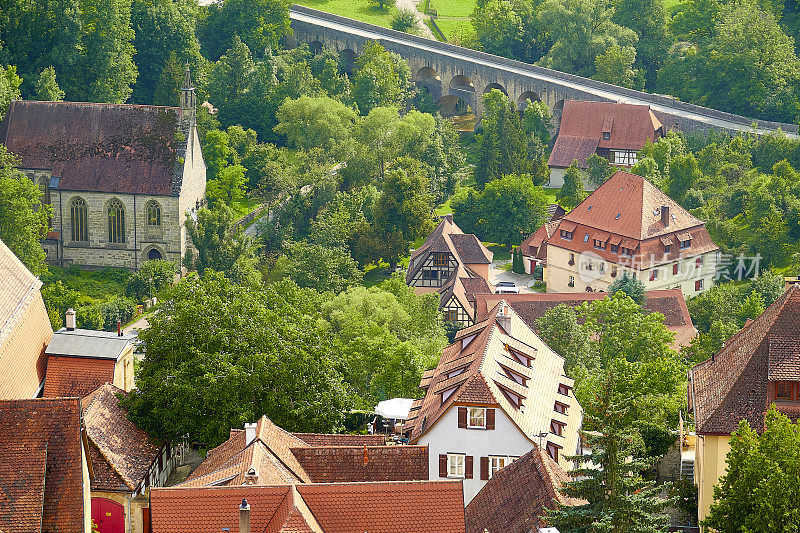
M 547 217 L 544 191 L 530 178 L 514 174 L 487 183 L 479 205 L 485 224 L 480 235 L 509 247 L 521 243 Z

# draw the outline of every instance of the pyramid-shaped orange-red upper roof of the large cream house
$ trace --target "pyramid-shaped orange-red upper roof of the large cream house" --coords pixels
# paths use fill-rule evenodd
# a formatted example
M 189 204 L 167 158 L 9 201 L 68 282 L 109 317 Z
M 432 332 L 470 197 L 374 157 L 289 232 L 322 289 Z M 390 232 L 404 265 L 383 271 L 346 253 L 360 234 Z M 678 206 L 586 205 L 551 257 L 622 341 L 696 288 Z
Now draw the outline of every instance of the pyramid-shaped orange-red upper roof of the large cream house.
M 661 222 L 661 206 L 669 208 L 668 226 Z M 562 220 L 637 241 L 703 225 L 658 187 L 623 171 L 615 172 Z

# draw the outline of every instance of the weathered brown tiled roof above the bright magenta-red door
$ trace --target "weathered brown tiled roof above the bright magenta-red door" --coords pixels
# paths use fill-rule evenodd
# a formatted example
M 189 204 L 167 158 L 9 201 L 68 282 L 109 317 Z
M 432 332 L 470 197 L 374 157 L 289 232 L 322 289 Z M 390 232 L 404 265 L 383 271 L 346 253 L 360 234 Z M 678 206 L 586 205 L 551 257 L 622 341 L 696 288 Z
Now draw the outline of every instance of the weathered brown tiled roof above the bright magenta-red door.
M 130 421 L 127 411 L 119 405 L 119 394 L 127 393 L 105 383 L 84 399 L 86 433 L 101 454 L 102 462 L 134 491 L 158 457 L 160 446 Z M 108 481 L 111 483 L 95 476 L 92 490 L 120 490 L 115 479 Z

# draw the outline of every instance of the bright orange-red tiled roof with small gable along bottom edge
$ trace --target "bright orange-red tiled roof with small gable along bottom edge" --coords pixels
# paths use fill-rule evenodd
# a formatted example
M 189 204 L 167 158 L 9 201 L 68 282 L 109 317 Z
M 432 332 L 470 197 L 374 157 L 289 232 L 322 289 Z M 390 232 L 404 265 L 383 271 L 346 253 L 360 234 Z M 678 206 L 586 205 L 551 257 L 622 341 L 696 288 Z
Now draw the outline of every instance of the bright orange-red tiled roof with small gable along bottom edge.
M 454 481 L 153 488 L 153 532 L 238 531 L 242 500 L 251 531 L 464 532 L 464 495 Z

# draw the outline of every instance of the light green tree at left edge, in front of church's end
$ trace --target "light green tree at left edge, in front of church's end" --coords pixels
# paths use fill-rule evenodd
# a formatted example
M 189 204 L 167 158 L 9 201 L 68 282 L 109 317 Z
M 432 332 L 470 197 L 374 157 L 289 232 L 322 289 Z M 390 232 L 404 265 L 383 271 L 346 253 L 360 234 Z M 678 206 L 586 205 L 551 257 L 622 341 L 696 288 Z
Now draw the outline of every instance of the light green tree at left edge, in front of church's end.
M 46 270 L 39 241 L 47 235 L 52 208 L 40 202 L 41 189 L 15 164 L 0 145 L 0 240 L 38 276 Z

